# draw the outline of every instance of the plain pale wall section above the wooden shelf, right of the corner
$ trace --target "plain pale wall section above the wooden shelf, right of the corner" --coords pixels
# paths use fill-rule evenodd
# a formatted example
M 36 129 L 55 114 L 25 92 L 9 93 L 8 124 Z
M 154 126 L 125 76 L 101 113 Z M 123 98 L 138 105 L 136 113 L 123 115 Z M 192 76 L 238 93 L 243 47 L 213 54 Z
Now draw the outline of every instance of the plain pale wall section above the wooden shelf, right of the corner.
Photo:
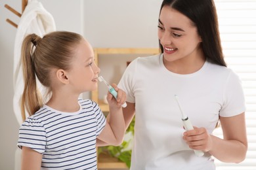
M 161 0 L 86 0 L 85 37 L 94 47 L 157 48 Z

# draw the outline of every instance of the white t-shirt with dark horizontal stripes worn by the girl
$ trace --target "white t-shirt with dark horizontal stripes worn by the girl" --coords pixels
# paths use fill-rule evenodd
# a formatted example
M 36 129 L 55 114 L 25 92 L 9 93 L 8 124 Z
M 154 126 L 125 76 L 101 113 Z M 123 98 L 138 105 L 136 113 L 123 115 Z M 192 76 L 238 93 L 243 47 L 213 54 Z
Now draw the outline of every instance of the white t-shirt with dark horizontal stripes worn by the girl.
M 97 169 L 96 137 L 106 118 L 95 102 L 78 103 L 72 113 L 44 105 L 20 127 L 18 146 L 43 154 L 41 169 Z

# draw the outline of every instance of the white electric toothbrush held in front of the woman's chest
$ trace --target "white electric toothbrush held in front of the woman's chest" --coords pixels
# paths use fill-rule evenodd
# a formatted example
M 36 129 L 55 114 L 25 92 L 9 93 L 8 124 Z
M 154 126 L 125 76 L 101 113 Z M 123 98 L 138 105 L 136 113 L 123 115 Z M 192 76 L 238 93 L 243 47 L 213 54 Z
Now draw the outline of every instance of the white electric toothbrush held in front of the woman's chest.
M 181 116 L 182 116 L 181 120 L 184 124 L 186 131 L 194 129 L 194 127 L 192 126 L 192 123 L 188 119 L 188 116 L 186 116 L 186 114 L 184 114 L 181 104 L 179 103 L 179 98 L 177 95 L 175 95 L 175 99 L 179 105 L 179 109 L 181 110 Z M 202 150 L 194 150 L 194 152 L 195 152 L 196 156 L 203 156 L 203 154 L 204 154 Z

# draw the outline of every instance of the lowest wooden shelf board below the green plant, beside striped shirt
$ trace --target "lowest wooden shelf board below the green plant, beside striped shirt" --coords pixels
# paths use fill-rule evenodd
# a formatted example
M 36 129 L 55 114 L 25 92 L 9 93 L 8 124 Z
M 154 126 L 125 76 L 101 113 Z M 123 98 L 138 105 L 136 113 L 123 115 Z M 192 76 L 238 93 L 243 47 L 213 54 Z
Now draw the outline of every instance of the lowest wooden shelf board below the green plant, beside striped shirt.
M 98 155 L 98 169 L 128 169 L 127 165 L 117 158 L 104 153 Z

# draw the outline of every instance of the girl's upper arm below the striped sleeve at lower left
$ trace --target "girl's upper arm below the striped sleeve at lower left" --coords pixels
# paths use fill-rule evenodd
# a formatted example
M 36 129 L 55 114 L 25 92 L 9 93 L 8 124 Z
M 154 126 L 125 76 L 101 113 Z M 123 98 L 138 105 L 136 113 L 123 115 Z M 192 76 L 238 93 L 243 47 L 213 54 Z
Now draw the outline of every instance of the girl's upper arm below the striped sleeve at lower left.
M 42 154 L 32 148 L 22 146 L 22 170 L 41 169 Z

